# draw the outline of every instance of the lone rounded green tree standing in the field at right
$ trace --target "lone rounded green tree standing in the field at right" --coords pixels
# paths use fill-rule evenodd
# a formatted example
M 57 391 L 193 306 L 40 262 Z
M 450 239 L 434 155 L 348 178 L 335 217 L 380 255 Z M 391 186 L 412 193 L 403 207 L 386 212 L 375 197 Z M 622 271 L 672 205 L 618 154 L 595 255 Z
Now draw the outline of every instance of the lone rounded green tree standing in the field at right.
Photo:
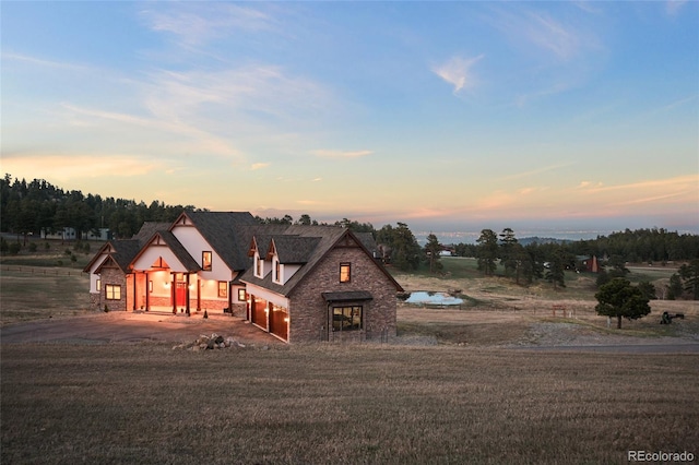
M 641 289 L 632 286 L 628 279 L 623 277 L 615 277 L 600 287 L 594 297 L 599 302 L 594 308 L 597 314 L 616 317 L 616 327 L 619 330 L 621 329 L 621 318 L 636 320 L 651 312 L 648 298 L 643 296 Z

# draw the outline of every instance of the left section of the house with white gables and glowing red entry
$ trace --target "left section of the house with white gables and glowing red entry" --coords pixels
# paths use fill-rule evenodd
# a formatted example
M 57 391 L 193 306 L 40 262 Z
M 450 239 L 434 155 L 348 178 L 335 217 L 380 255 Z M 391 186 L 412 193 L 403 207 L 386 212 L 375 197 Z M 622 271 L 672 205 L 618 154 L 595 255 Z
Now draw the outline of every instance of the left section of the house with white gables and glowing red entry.
M 129 240 L 107 242 L 84 269 L 91 303 L 109 310 L 233 311 L 246 306 L 235 283 L 248 266 L 235 235 L 256 225 L 248 212 L 185 212 L 173 224 L 145 224 Z

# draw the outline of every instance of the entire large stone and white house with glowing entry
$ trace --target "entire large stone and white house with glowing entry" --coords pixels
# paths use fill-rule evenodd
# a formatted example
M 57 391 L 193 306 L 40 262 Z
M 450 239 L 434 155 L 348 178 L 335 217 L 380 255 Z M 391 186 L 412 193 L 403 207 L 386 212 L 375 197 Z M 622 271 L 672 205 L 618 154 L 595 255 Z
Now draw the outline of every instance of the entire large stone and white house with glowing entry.
M 286 342 L 395 335 L 401 286 L 370 234 L 260 225 L 248 212 L 185 212 L 107 242 L 85 267 L 91 305 L 229 312 Z

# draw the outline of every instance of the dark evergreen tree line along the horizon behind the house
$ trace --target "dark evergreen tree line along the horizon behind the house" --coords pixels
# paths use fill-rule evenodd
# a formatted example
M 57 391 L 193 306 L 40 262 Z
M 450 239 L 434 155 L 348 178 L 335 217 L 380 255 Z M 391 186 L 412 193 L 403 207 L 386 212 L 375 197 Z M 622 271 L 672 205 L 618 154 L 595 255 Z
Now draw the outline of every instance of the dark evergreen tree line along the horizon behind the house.
M 171 223 L 187 210 L 202 211 L 193 205 L 166 205 L 158 201 L 146 205 L 143 201 L 84 195 L 79 190 L 63 190 L 43 179 L 26 182 L 24 179 L 13 180 L 10 175 L 0 179 L 0 228 L 3 233 L 23 236 L 25 245 L 28 235 L 38 235 L 42 230 L 60 231 L 64 227 L 73 228 L 78 237 L 81 237 L 81 233 L 108 228 L 115 238 L 130 238 L 144 222 Z M 281 218 L 257 216 L 257 219 L 263 224 L 328 225 L 308 214 L 297 219 L 291 215 Z M 499 234 L 483 229 L 475 243 L 442 245 L 436 235 L 430 234 L 427 243 L 420 247 L 405 223 L 376 229 L 370 223 L 343 218 L 332 225 L 355 233 L 370 233 L 378 245 L 380 258 L 407 272 L 420 266 L 428 267 L 433 273 L 440 272 L 442 266 L 439 258 L 442 251 L 449 250 L 457 255 L 477 259 L 478 270 L 484 276 L 495 275 L 500 266 L 503 274 L 518 284 L 545 279 L 555 287 L 562 287 L 565 271 L 580 267 L 579 257 L 594 255 L 604 265 L 597 276 L 597 285 L 624 277 L 628 273 L 626 262 L 682 261 L 689 263 L 671 279 L 671 298 L 673 294 L 682 295 L 683 289 L 691 286 L 691 283 L 695 283 L 691 294 L 697 296 L 698 293 L 699 236 L 663 228 L 626 229 L 591 240 L 534 240 L 525 245 L 520 242 L 511 228 L 505 228 Z

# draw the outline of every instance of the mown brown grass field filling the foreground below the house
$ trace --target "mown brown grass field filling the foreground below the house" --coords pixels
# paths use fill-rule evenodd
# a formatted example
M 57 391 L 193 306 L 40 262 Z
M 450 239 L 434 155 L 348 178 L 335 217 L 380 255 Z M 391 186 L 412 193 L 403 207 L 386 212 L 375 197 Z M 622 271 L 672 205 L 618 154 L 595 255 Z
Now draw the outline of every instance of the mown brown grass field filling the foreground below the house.
M 696 355 L 2 347 L 4 463 L 626 463 L 699 453 Z M 692 450 L 694 448 L 694 450 Z

